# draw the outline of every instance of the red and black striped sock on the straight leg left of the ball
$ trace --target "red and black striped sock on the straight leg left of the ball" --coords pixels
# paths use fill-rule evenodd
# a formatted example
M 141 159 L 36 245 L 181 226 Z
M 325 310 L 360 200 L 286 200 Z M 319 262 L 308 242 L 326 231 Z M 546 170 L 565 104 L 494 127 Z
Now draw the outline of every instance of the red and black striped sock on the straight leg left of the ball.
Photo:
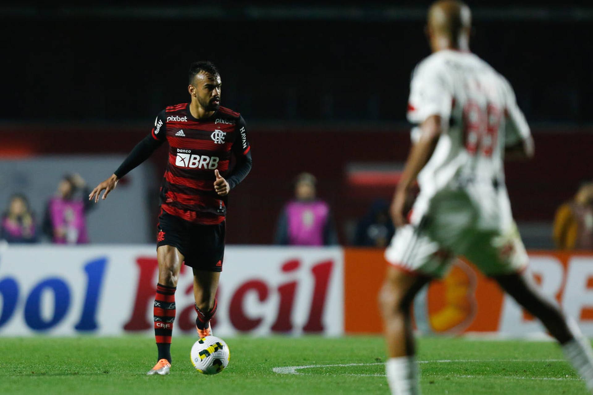
M 171 363 L 171 333 L 175 320 L 176 286 L 157 283 L 157 296 L 154 298 L 154 337 L 157 339 L 158 359 Z

